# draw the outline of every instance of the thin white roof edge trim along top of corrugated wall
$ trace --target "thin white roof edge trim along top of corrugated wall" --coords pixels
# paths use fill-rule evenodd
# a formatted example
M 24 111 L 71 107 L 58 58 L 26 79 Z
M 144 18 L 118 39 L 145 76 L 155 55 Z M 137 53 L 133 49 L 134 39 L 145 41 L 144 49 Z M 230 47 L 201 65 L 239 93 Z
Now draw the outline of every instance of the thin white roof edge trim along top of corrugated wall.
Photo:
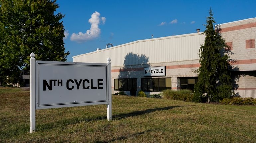
M 97 53 L 97 52 L 101 52 L 101 51 L 105 51 L 105 50 L 109 50 L 109 49 L 114 49 L 114 48 L 130 45 L 130 44 L 134 44 L 134 43 L 139 43 L 139 42 L 155 41 L 155 40 L 162 40 L 162 39 L 171 39 L 171 38 L 186 37 L 186 36 L 194 36 L 194 35 L 199 35 L 199 34 L 203 34 L 203 32 L 182 34 L 182 35 L 174 35 L 174 36 L 167 36 L 167 37 L 160 37 L 160 38 L 151 38 L 151 39 L 144 39 L 144 40 L 137 40 L 137 41 L 133 41 L 133 42 L 113 46 L 113 47 L 110 47 L 110 48 L 101 49 L 101 50 L 98 50 L 98 51 L 93 51 L 93 52 L 89 52 L 89 53 L 85 53 L 85 54 L 76 55 L 76 56 L 73 56 L 72 58 L 76 58 L 76 57 L 87 55 L 87 54 Z

